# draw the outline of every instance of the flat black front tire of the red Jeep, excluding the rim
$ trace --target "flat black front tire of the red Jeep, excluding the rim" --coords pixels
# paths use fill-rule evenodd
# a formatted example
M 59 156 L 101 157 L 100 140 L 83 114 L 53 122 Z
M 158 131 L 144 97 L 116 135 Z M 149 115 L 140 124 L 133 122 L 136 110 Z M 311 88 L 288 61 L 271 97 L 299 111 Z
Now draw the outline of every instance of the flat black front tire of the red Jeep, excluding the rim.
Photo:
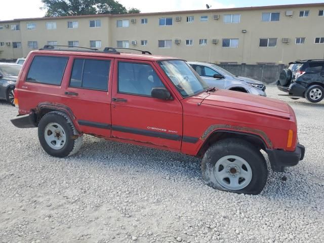
M 218 161 L 225 156 L 242 158 L 251 168 L 252 178 L 244 188 L 232 190 L 224 187 L 215 176 L 214 169 Z M 228 159 L 230 160 L 230 159 Z M 235 165 L 235 160 L 230 160 Z M 242 168 L 240 168 L 242 170 Z M 224 168 L 225 170 L 225 168 Z M 201 161 L 201 172 L 205 183 L 215 189 L 244 194 L 259 194 L 267 181 L 268 169 L 264 156 L 253 144 L 241 139 L 224 139 L 212 145 Z M 229 173 L 229 172 L 227 172 Z M 231 174 L 229 174 L 231 175 Z M 239 177 L 239 176 L 238 176 Z M 227 179 L 227 178 L 226 178 Z M 238 178 L 240 180 L 241 178 Z M 223 179 L 225 181 L 225 179 Z M 224 183 L 223 183 L 224 184 Z M 242 184 L 244 185 L 244 184 Z

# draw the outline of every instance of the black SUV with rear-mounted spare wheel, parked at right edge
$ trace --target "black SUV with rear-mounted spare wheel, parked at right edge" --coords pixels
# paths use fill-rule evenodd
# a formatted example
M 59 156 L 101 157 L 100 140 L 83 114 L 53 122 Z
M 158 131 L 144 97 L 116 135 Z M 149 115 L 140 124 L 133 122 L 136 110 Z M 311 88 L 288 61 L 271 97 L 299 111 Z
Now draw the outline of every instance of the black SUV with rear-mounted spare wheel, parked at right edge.
M 324 98 L 324 60 L 303 60 L 289 63 L 280 72 L 277 87 L 290 98 L 306 98 L 317 103 Z

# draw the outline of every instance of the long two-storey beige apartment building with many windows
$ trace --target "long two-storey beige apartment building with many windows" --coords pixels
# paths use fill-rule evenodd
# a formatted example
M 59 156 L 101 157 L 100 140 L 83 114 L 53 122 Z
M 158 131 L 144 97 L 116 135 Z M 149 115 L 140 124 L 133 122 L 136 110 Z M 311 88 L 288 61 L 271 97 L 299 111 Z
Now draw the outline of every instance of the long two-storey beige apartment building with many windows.
M 324 59 L 324 3 L 0 21 L 0 59 L 44 45 L 124 47 L 190 61 Z

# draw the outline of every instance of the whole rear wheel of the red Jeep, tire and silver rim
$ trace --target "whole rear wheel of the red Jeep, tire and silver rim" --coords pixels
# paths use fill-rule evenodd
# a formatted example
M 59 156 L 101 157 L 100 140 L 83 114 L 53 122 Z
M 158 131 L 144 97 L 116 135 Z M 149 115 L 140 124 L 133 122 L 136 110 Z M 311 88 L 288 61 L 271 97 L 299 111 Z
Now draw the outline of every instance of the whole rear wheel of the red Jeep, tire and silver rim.
M 43 149 L 55 157 L 76 153 L 82 144 L 82 136 L 76 132 L 71 119 L 63 112 L 45 114 L 38 125 L 38 139 Z

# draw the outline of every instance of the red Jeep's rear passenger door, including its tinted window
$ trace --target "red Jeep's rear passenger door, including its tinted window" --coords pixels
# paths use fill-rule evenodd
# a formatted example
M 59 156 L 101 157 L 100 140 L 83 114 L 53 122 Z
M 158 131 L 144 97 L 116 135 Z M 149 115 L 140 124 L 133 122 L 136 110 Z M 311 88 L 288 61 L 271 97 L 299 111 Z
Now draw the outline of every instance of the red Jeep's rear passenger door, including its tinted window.
M 84 133 L 111 136 L 109 77 L 112 59 L 74 56 L 69 61 L 63 100 Z

